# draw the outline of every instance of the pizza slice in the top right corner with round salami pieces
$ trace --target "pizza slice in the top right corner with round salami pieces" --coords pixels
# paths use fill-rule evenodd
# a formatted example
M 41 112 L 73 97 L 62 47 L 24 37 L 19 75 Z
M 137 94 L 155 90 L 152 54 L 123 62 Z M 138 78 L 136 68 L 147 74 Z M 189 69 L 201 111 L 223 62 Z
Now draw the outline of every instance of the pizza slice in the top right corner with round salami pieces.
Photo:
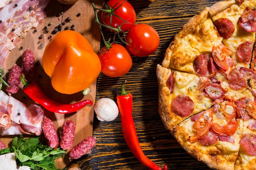
M 251 22 L 256 19 L 255 4 L 253 0 L 245 0 L 225 9 L 222 3 L 216 3 L 209 9 L 213 24 L 223 38 L 223 44 L 231 51 L 231 57 L 248 68 L 255 42 L 256 25 Z

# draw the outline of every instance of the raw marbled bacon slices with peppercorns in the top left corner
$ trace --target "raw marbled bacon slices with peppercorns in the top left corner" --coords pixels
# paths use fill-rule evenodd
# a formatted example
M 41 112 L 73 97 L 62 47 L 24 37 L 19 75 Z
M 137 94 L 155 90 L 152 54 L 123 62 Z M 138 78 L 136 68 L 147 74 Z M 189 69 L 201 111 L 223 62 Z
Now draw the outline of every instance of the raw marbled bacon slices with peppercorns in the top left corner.
M 36 28 L 45 18 L 44 10 L 49 3 L 49 0 L 12 0 L 12 3 L 9 3 L 9 0 L 6 1 L 6 5 L 0 8 L 0 65 L 2 68 L 10 51 L 17 46 L 20 38 L 24 38 L 29 29 Z

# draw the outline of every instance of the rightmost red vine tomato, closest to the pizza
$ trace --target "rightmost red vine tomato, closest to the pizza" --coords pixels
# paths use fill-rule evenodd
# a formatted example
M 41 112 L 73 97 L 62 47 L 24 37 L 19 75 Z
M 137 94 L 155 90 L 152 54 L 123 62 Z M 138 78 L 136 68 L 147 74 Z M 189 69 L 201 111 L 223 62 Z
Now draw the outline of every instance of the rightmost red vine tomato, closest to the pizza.
M 145 57 L 154 53 L 160 43 L 157 31 L 148 24 L 136 24 L 126 35 L 126 48 L 137 57 Z

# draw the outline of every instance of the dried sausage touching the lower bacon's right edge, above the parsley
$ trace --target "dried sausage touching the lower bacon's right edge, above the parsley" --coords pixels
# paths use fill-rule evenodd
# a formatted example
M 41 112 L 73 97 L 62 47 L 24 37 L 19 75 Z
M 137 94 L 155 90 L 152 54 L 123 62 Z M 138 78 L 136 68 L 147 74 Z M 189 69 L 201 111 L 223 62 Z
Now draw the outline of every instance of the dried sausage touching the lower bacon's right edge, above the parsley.
M 42 122 L 42 129 L 48 146 L 56 149 L 59 144 L 59 139 L 52 120 L 45 117 Z

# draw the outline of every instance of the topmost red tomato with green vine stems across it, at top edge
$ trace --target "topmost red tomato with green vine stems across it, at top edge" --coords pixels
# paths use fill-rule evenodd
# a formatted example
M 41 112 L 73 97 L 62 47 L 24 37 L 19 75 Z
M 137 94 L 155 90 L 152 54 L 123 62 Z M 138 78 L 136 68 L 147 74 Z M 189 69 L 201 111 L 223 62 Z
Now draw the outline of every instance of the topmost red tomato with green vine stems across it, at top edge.
M 113 28 L 117 28 L 121 25 L 121 31 L 119 32 L 128 31 L 134 25 L 136 13 L 132 5 L 127 0 L 110 0 L 107 2 L 107 5 L 111 7 L 111 13 L 102 11 L 102 24 Z M 115 32 L 113 30 L 111 31 Z

